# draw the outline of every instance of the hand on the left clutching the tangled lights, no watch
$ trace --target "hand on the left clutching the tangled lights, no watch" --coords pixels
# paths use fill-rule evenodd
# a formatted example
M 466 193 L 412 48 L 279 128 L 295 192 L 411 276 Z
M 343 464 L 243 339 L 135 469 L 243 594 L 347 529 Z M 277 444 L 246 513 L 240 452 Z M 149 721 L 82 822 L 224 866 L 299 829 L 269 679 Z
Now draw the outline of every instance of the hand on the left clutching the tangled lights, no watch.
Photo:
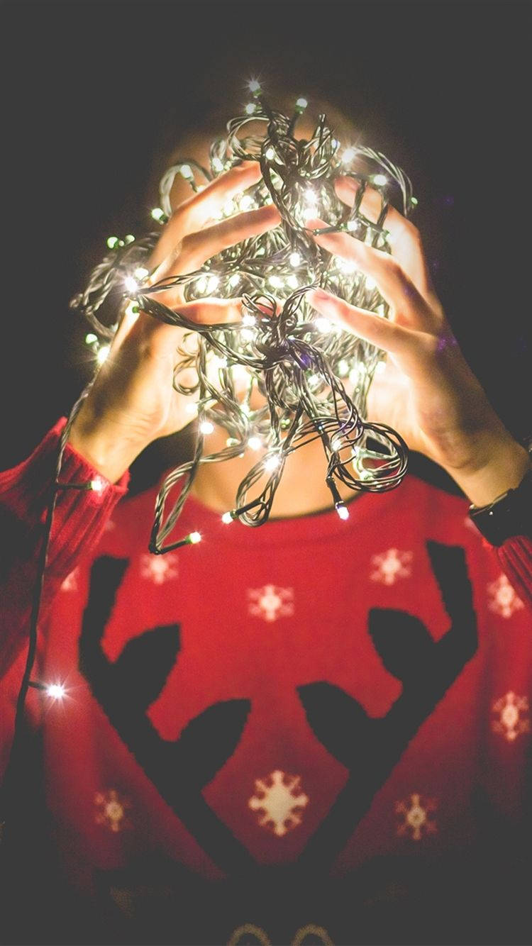
M 213 223 L 226 201 L 257 184 L 260 168 L 246 162 L 216 178 L 179 204 L 155 246 L 151 283 L 198 270 L 211 256 L 272 229 L 280 222 L 273 205 Z M 146 293 L 148 294 L 148 293 Z M 238 322 L 238 299 L 202 299 L 183 303 L 180 289 L 154 298 L 179 309 L 199 324 Z M 109 355 L 85 398 L 70 432 L 70 443 L 110 482 L 116 482 L 136 456 L 157 437 L 190 421 L 191 397 L 172 387 L 176 349 L 185 330 L 159 322 L 144 312 L 122 318 Z

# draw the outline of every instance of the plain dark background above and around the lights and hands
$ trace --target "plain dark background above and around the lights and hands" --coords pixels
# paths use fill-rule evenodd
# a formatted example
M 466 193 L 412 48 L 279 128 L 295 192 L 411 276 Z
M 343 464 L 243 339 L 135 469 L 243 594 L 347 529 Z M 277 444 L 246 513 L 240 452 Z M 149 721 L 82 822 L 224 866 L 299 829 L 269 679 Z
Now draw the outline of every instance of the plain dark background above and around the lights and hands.
M 321 92 L 404 166 L 459 341 L 532 432 L 530 8 L 489 3 L 24 3 L 2 7 L 2 465 L 91 374 L 68 309 L 111 234 L 151 229 L 149 182 L 194 117 L 260 75 Z M 225 107 L 226 106 L 226 107 Z

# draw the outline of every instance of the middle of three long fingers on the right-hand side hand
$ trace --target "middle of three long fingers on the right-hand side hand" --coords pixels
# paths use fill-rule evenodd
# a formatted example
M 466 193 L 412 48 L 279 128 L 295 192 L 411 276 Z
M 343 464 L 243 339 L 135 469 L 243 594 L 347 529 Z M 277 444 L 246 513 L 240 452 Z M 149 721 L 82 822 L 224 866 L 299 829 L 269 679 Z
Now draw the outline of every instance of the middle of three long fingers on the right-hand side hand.
M 310 219 L 311 230 L 327 226 L 323 220 Z M 314 239 L 329 253 L 356 263 L 365 275 L 371 276 L 381 292 L 382 298 L 392 307 L 394 320 L 424 331 L 436 328 L 436 319 L 431 307 L 417 290 L 399 261 L 389 253 L 366 246 L 362 240 L 346 233 L 314 234 Z

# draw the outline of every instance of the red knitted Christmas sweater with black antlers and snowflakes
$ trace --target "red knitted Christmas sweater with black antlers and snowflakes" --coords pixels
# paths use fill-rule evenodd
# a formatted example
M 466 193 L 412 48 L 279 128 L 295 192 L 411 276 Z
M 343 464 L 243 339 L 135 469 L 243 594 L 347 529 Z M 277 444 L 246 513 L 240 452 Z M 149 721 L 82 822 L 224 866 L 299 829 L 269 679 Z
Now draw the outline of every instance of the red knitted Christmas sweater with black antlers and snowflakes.
M 6 758 L 63 423 L 0 477 Z M 67 447 L 62 481 L 94 476 Z M 60 495 L 33 676 L 66 695 L 28 694 L 73 879 L 154 850 L 209 879 L 445 855 L 474 843 L 479 791 L 519 825 L 530 538 L 492 549 L 464 499 L 407 477 L 347 521 L 253 530 L 190 499 L 178 528 L 203 540 L 155 556 L 155 490 L 126 493 Z

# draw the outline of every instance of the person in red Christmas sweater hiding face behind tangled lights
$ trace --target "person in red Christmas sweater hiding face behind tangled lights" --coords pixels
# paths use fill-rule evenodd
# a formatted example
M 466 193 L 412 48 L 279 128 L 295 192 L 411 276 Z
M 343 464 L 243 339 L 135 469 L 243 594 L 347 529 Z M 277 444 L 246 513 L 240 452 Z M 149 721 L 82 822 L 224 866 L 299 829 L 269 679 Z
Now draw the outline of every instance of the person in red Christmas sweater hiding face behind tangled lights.
M 174 194 L 157 278 L 277 225 L 272 205 L 216 220 L 259 173 L 243 162 Z M 354 201 L 356 184 L 336 186 Z M 378 212 L 371 188 L 363 209 Z M 322 290 L 312 306 L 387 353 L 371 418 L 463 495 L 415 476 L 383 495 L 341 484 L 342 521 L 313 441 L 289 457 L 266 525 L 226 525 L 247 451 L 199 469 L 180 521 L 202 542 L 152 555 L 155 489 L 128 498 L 128 469 L 190 422 L 172 388 L 183 333 L 124 314 L 62 459 L 62 484 L 98 489 L 58 492 L 34 670 L 56 690 L 27 698 L 68 885 L 52 894 L 39 873 L 17 941 L 29 921 L 55 942 L 502 942 L 520 929 L 532 536 L 523 516 L 488 543 L 468 510 L 522 496 L 530 459 L 453 337 L 416 227 L 390 207 L 384 254 L 322 225 L 308 221 L 316 243 L 373 278 L 391 318 Z M 240 315 L 239 300 L 165 302 L 198 324 Z M 5 760 L 64 424 L 0 478 Z M 225 437 L 215 429 L 211 450 Z

